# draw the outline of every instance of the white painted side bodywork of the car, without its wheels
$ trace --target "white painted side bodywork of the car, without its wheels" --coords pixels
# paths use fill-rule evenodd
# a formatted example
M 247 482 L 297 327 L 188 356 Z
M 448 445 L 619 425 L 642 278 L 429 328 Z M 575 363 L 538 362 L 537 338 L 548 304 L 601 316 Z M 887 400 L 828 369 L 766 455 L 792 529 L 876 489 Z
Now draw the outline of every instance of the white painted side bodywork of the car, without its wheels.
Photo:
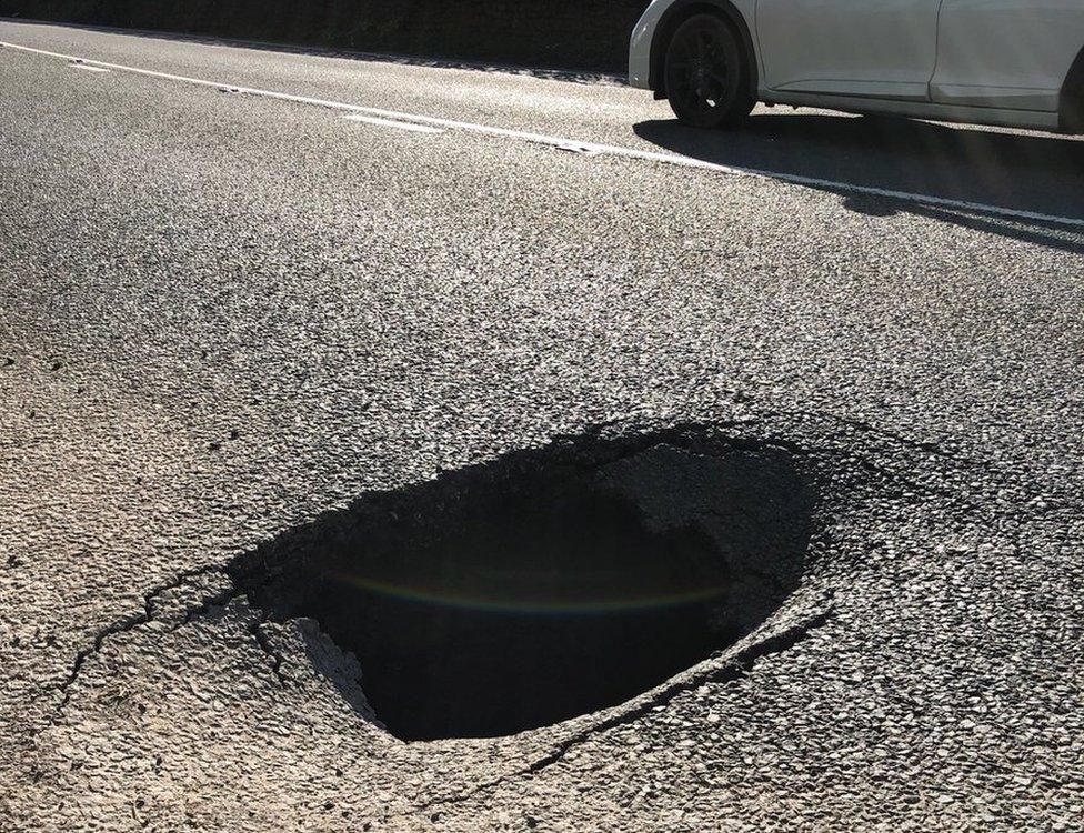
M 629 82 L 650 89 L 666 13 L 632 32 Z M 1084 47 L 1084 0 L 731 0 L 756 52 L 756 97 L 1057 130 L 1062 86 Z M 665 48 L 664 46 L 661 48 Z

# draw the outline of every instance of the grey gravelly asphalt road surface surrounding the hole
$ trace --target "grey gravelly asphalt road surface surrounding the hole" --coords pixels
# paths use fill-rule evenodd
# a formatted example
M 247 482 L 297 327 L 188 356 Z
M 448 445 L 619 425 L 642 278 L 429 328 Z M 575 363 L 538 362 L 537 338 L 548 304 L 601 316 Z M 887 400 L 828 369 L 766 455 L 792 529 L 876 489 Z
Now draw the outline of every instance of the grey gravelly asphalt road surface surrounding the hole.
M 1084 217 L 1065 138 L 705 138 L 613 86 L 0 40 Z M 0 247 L 0 829 L 1080 829 L 1078 230 L 3 49 Z M 378 492 L 653 432 L 785 454 L 812 532 L 762 625 L 602 713 L 403 743 L 238 566 Z

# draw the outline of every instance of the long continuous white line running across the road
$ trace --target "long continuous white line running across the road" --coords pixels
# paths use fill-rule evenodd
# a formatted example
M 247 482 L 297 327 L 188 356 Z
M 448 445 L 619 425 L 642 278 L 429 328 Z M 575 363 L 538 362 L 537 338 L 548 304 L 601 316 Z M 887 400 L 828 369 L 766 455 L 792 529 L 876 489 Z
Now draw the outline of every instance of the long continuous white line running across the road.
M 729 175 L 741 175 L 741 177 L 756 177 L 760 179 L 775 180 L 777 182 L 786 182 L 792 185 L 803 185 L 805 188 L 833 191 L 836 193 L 860 193 L 870 197 L 882 197 L 885 199 L 895 200 L 897 202 L 911 202 L 920 205 L 933 205 L 937 208 L 952 209 L 955 211 L 971 211 L 981 214 L 991 214 L 994 217 L 1003 217 L 1010 220 L 1022 220 L 1022 221 L 1084 228 L 1084 218 L 1078 218 L 1078 217 L 1061 217 L 1057 214 L 1044 214 L 1038 211 L 1021 211 L 1018 209 L 1005 208 L 1003 205 L 993 205 L 984 202 L 968 202 L 966 200 L 953 200 L 945 197 L 933 197 L 932 194 L 912 193 L 910 191 L 895 191 L 887 188 L 875 188 L 873 185 L 859 185 L 850 182 L 840 182 L 837 180 L 817 179 L 815 177 L 803 177 L 796 173 L 777 173 L 775 171 L 757 170 L 755 168 L 739 168 L 734 165 L 720 164 L 717 162 L 707 162 L 703 159 L 693 159 L 692 157 L 683 157 L 676 153 L 661 153 L 661 152 L 650 151 L 650 150 L 638 150 L 635 148 L 624 148 L 615 144 L 595 144 L 593 142 L 581 142 L 574 139 L 568 139 L 562 137 L 545 136 L 544 133 L 531 133 L 523 130 L 510 130 L 506 128 L 494 128 L 488 124 L 475 124 L 469 121 L 456 121 L 455 119 L 442 119 L 435 116 L 421 116 L 418 113 L 399 112 L 397 110 L 384 110 L 377 107 L 364 107 L 362 104 L 348 104 L 342 101 L 330 101 L 328 99 L 311 98 L 309 96 L 293 96 L 288 92 L 275 92 L 274 90 L 261 90 L 253 87 L 234 87 L 232 84 L 223 83 L 221 81 L 209 81 L 203 78 L 178 76 L 172 72 L 159 72 L 157 70 L 141 69 L 139 67 L 129 67 L 123 63 L 110 63 L 108 61 L 97 61 L 90 58 L 77 58 L 76 56 L 64 54 L 63 52 L 51 52 L 48 49 L 24 47 L 19 43 L 11 43 L 8 41 L 0 41 L 0 47 L 8 47 L 10 49 L 16 49 L 22 52 L 30 52 L 33 54 L 46 56 L 49 58 L 59 58 L 66 61 L 80 61 L 83 63 L 93 64 L 96 67 L 104 67 L 107 69 L 117 70 L 118 72 L 130 72 L 137 76 L 149 76 L 150 78 L 161 78 L 169 81 L 181 81 L 183 83 L 195 84 L 198 87 L 213 87 L 220 90 L 224 89 L 224 90 L 229 90 L 230 92 L 239 92 L 248 96 L 259 96 L 262 98 L 273 99 L 277 101 L 290 101 L 299 104 L 311 104 L 313 107 L 323 107 L 331 110 L 341 110 L 351 113 L 365 113 L 368 116 L 373 116 L 382 119 L 390 119 L 399 122 L 405 121 L 405 122 L 413 122 L 415 124 L 425 124 L 434 128 L 444 128 L 448 130 L 461 130 L 464 132 L 480 133 L 482 136 L 495 136 L 505 139 L 520 139 L 522 141 L 533 142 L 536 144 L 546 144 L 563 150 L 574 149 L 579 153 L 586 153 L 592 155 L 604 154 L 610 157 L 619 157 L 623 159 L 636 159 L 646 162 L 661 162 L 663 164 L 672 164 L 672 165 L 678 165 L 680 168 L 693 168 L 696 170 L 712 171 L 714 173 L 725 173 Z

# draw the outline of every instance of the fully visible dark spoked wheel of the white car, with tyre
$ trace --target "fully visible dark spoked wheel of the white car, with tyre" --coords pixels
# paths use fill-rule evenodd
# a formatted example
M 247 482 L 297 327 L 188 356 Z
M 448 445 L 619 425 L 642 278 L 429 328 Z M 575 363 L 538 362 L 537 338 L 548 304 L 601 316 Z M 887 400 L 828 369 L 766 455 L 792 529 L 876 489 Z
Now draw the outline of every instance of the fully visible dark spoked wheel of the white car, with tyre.
M 666 98 L 678 118 L 699 128 L 733 128 L 753 109 L 749 68 L 734 30 L 714 14 L 694 14 L 666 50 Z

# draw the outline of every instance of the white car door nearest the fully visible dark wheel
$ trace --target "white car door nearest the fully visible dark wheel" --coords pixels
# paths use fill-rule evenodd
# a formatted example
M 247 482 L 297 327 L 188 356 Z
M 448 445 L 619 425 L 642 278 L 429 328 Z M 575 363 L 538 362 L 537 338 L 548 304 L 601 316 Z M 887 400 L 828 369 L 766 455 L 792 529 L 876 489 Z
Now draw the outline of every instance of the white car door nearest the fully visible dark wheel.
M 757 0 L 769 88 L 930 100 L 941 0 Z

